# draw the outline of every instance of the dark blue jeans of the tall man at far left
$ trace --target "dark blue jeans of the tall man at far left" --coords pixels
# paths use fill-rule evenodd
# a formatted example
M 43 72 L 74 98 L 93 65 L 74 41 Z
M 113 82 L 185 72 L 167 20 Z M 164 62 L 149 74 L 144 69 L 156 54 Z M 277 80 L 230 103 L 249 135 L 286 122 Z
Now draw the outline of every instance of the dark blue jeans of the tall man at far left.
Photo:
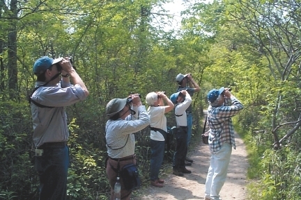
M 36 156 L 36 170 L 40 176 L 40 200 L 65 200 L 67 198 L 67 174 L 69 149 L 47 147 L 43 156 Z

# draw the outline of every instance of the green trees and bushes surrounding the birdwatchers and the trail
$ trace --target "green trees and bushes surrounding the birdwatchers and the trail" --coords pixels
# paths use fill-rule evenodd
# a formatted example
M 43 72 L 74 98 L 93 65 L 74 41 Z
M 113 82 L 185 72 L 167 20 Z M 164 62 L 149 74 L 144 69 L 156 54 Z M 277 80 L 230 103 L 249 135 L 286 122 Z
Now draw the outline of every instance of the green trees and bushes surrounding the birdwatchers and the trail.
M 176 74 L 189 72 L 201 86 L 193 97 L 194 137 L 201 132 L 207 92 L 231 87 L 245 106 L 235 120 L 249 152 L 252 198 L 300 199 L 300 128 L 291 123 L 277 129 L 278 138 L 293 134 L 282 149 L 271 150 L 272 131 L 300 119 L 299 1 L 187 2 L 176 36 L 176 31 L 162 30 L 164 24 L 151 23 L 160 22 L 161 15 L 152 12 L 164 3 L 160 0 L 18 1 L 17 10 L 6 3 L 0 15 L 0 199 L 38 197 L 26 96 L 36 78 L 33 62 L 44 55 L 71 56 L 91 94 L 67 108 L 68 199 L 109 197 L 104 168 L 107 102 L 130 92 L 139 92 L 142 101 L 148 92 L 171 95 L 178 87 Z M 8 37 L 14 31 L 15 41 Z M 16 51 L 8 51 L 15 47 L 11 44 Z M 12 52 L 17 53 L 13 59 Z M 176 124 L 172 113 L 167 118 L 168 126 Z M 149 130 L 135 136 L 146 183 Z M 173 142 L 165 154 L 167 165 L 174 147 Z

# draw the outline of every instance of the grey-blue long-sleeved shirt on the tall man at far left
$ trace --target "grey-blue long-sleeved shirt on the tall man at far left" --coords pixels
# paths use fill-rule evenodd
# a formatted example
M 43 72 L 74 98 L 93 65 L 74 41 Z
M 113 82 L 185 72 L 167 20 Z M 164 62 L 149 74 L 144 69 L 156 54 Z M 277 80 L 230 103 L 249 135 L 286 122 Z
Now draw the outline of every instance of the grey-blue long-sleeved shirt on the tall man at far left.
M 37 81 L 36 87 L 45 84 Z M 33 101 L 43 106 L 54 108 L 40 108 L 31 103 L 33 118 L 33 143 L 35 147 L 45 142 L 65 142 L 68 140 L 67 116 L 64 106 L 86 99 L 86 94 L 78 84 L 61 83 L 46 85 L 38 88 L 31 97 Z

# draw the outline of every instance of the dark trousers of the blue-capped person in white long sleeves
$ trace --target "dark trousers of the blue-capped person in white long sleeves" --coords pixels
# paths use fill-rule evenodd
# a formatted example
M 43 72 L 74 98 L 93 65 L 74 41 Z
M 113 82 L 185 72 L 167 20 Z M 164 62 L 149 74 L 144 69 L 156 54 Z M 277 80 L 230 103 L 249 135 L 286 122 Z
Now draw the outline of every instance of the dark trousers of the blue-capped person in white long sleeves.
M 187 155 L 187 128 L 176 129 L 176 151 L 173 155 L 173 169 L 184 169 Z

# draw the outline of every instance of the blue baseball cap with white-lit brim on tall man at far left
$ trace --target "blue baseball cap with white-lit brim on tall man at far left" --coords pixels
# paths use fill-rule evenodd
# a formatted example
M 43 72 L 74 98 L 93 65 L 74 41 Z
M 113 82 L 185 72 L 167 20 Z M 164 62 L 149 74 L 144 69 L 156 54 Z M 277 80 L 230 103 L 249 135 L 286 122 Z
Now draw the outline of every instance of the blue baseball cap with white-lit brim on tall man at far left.
M 41 58 L 38 58 L 36 62 L 33 64 L 33 73 L 36 74 L 36 76 L 39 76 L 40 74 L 43 74 L 49 67 L 52 65 L 61 62 L 63 58 L 56 58 L 52 59 L 48 56 L 43 56 Z

